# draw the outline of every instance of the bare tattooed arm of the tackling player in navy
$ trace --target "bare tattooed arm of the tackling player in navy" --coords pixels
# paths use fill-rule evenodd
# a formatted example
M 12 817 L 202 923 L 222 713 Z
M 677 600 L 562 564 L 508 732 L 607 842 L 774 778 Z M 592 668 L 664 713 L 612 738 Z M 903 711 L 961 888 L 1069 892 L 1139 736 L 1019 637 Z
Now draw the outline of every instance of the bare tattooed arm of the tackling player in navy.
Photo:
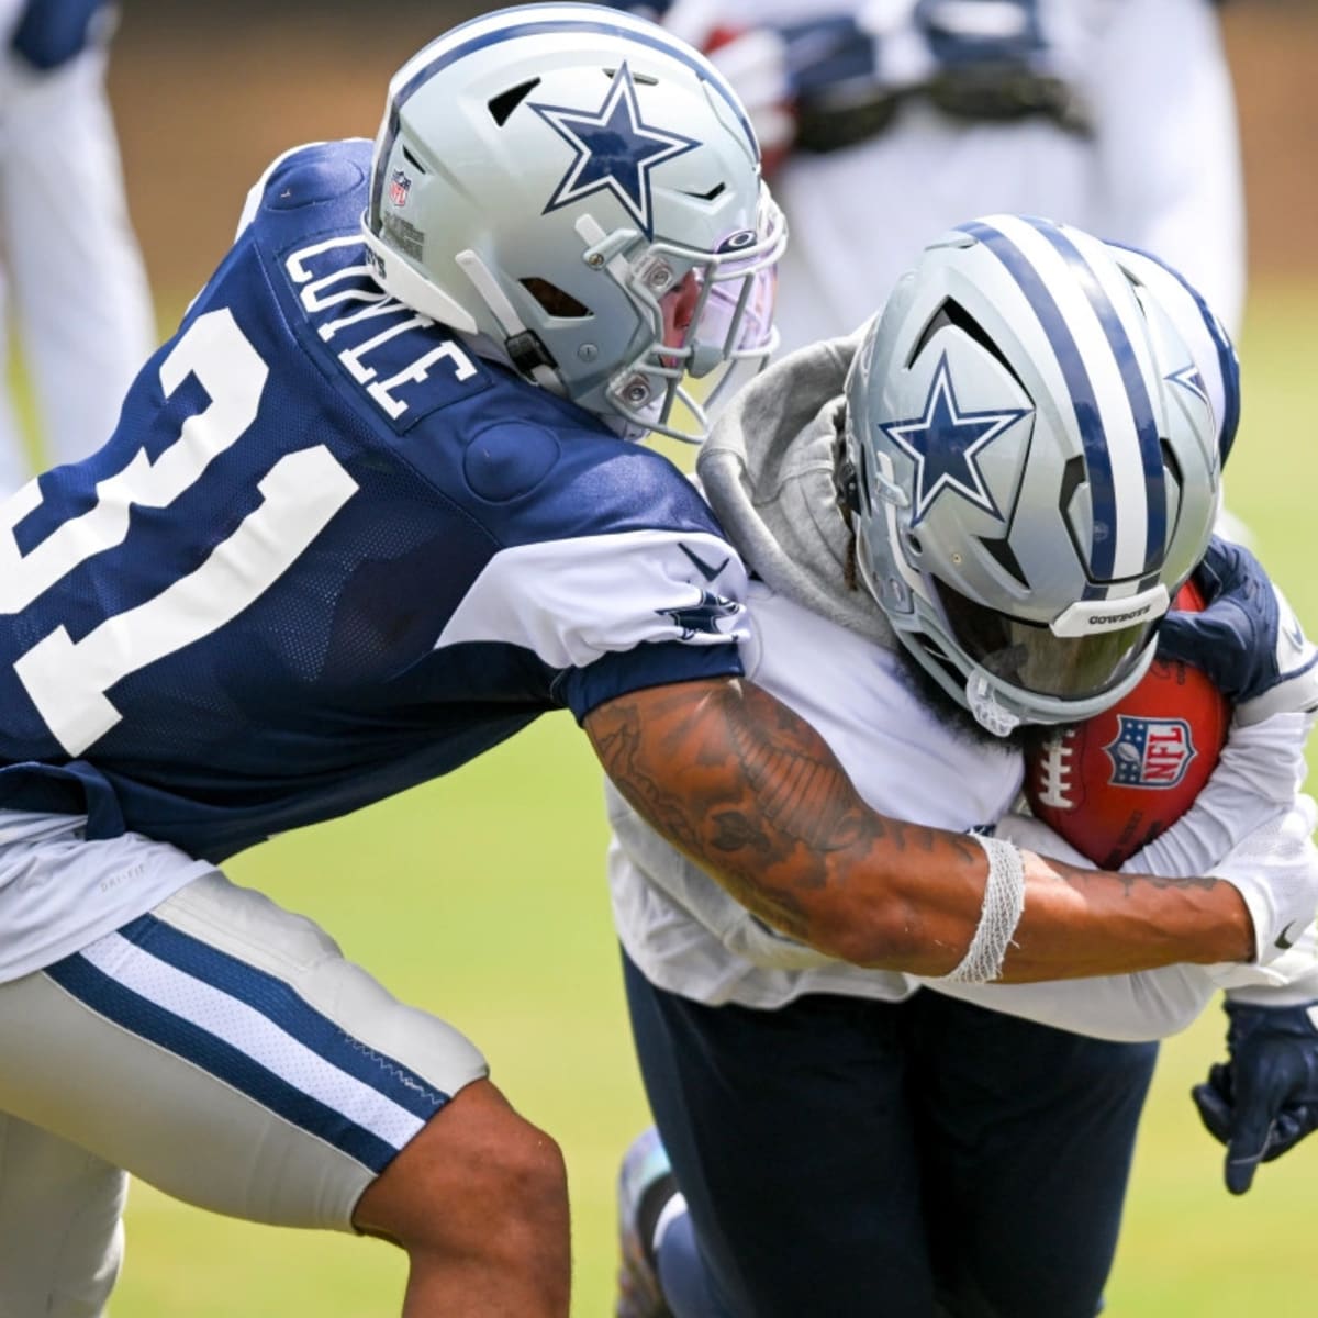
M 985 849 L 871 811 L 813 728 L 767 692 L 731 679 L 654 687 L 584 726 L 633 807 L 762 920 L 857 965 L 945 975 L 962 963 L 985 913 Z M 1024 908 L 1003 981 L 1255 953 L 1228 882 L 1019 855 Z

